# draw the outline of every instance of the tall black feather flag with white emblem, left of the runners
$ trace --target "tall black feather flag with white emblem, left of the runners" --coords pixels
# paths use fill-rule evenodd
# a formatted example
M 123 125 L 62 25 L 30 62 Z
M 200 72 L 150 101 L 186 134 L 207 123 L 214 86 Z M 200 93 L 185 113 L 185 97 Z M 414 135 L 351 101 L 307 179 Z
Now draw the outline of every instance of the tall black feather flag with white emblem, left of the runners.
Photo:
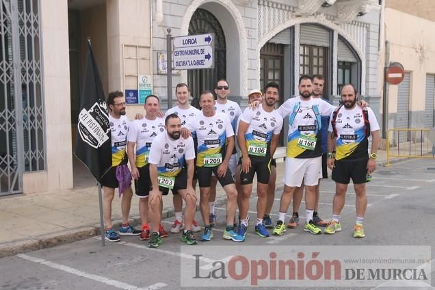
M 74 153 L 98 183 L 111 168 L 111 133 L 100 74 L 88 41 Z

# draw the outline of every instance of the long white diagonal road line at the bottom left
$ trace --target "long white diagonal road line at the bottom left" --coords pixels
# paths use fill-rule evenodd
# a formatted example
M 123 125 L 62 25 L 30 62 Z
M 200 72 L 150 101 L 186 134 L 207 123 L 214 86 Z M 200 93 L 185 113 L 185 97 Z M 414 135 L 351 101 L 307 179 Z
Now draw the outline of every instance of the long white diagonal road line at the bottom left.
M 146 287 L 146 288 L 140 288 L 140 287 L 136 287 L 136 286 L 133 286 L 133 285 L 129 285 L 129 284 L 124 283 L 124 282 L 120 282 L 120 281 L 117 281 L 117 280 L 106 278 L 106 277 L 103 277 L 103 276 L 89 274 L 89 273 L 80 271 L 79 269 L 75 269 L 75 268 L 68 267 L 68 266 L 65 266 L 65 265 L 53 263 L 51 261 L 47 261 L 47 260 L 44 260 L 44 259 L 35 258 L 33 256 L 28 256 L 27 254 L 17 254 L 16 256 L 18 256 L 18 258 L 21 258 L 21 259 L 24 259 L 24 260 L 27 260 L 27 261 L 31 261 L 31 262 L 34 262 L 34 263 L 45 265 L 47 267 L 51 267 L 53 269 L 57 269 L 57 270 L 60 270 L 60 271 L 63 271 L 63 272 L 74 274 L 76 276 L 80 276 L 80 277 L 83 277 L 83 278 L 88 278 L 90 280 L 94 280 L 96 282 L 101 282 L 101 283 L 104 283 L 104 284 L 107 284 L 107 285 L 110 285 L 110 286 L 113 286 L 113 287 L 116 287 L 116 288 L 119 288 L 119 289 L 126 289 L 126 290 L 146 290 L 146 289 L 148 289 L 148 290 L 151 290 L 151 289 L 161 289 L 163 287 L 168 286 L 165 283 L 156 283 L 156 284 L 150 285 L 149 287 Z

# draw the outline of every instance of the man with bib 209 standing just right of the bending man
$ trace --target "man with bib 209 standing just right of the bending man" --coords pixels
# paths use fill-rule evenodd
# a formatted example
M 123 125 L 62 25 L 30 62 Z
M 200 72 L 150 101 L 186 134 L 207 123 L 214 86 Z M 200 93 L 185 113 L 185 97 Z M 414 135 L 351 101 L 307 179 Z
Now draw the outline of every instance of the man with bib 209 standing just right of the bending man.
M 233 226 L 237 206 L 237 190 L 233 175 L 228 169 L 228 163 L 234 148 L 233 127 L 226 114 L 215 111 L 215 98 L 212 92 L 202 92 L 200 106 L 202 114 L 190 119 L 182 132 L 184 137 L 192 132 L 198 138 L 196 166 L 200 186 L 200 209 L 202 221 L 205 225 L 201 239 L 202 241 L 210 241 L 213 237 L 209 216 L 210 179 L 213 172 L 222 187 L 224 187 L 227 197 L 224 239 L 243 241 L 243 237 L 237 235 Z

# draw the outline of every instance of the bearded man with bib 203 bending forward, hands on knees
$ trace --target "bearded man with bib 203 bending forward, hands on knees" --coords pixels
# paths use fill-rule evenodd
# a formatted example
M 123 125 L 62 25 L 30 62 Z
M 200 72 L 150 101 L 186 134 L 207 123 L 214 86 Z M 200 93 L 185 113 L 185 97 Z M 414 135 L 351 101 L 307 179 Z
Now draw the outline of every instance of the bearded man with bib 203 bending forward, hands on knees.
M 176 114 L 165 119 L 165 129 L 155 137 L 150 150 L 150 179 L 153 189 L 150 191 L 151 234 L 149 248 L 157 248 L 162 240 L 159 235 L 161 222 L 161 196 L 169 189 L 178 192 L 186 202 L 185 228 L 181 241 L 188 245 L 196 244 L 192 233 L 192 222 L 196 211 L 196 193 L 194 179 L 195 145 L 192 137 L 181 137 L 181 120 Z M 187 170 L 186 170 L 187 166 Z

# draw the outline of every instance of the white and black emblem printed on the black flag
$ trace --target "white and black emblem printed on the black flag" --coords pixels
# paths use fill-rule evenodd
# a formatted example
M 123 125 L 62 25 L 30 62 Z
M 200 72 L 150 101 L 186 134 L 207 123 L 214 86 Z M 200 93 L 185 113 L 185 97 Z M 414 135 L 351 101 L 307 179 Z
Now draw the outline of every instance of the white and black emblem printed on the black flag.
M 109 140 L 110 124 L 106 103 L 96 102 L 89 110 L 83 108 L 79 114 L 77 130 L 81 140 L 93 148 L 98 148 Z

